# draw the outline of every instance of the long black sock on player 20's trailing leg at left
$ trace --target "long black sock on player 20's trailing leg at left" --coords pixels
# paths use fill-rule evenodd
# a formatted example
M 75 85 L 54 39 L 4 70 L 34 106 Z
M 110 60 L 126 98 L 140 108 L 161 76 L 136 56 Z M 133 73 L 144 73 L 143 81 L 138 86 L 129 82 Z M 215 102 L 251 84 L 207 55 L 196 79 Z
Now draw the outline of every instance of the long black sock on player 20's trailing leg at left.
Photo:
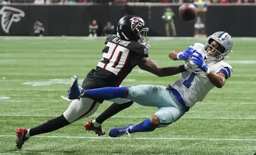
M 37 127 L 31 128 L 29 130 L 29 135 L 30 136 L 35 136 L 37 134 L 43 134 L 43 133 L 47 133 L 47 132 L 52 132 L 55 130 L 58 130 L 62 127 L 65 127 L 67 125 L 70 125 L 71 123 L 69 123 L 66 118 L 64 117 L 64 115 L 60 115 L 59 117 L 56 117 L 54 119 L 51 119 Z

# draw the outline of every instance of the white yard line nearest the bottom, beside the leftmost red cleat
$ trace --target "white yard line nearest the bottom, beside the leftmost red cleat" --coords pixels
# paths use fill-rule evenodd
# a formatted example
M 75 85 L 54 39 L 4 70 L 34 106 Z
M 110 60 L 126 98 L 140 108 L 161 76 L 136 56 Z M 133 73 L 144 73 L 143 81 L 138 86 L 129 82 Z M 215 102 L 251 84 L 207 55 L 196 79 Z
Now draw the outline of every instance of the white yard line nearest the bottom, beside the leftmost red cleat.
M 0 137 L 16 137 L 15 135 L 0 135 Z M 137 139 L 137 140 L 207 140 L 207 141 L 256 141 L 256 139 L 233 139 L 233 138 L 146 138 L 146 137 L 135 137 L 135 138 L 111 138 L 111 137 L 80 137 L 80 136 L 34 136 L 38 138 L 74 138 L 74 139 Z

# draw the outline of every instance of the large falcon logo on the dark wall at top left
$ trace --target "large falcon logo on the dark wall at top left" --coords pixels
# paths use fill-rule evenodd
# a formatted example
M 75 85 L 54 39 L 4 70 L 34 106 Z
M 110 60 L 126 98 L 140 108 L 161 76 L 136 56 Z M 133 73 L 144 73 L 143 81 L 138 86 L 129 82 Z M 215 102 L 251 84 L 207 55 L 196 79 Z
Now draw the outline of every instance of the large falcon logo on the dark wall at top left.
M 25 16 L 25 13 L 16 8 L 12 8 L 10 6 L 3 6 L 0 9 L 1 17 L 1 25 L 4 32 L 9 33 L 9 29 L 13 22 L 19 22 L 21 17 Z

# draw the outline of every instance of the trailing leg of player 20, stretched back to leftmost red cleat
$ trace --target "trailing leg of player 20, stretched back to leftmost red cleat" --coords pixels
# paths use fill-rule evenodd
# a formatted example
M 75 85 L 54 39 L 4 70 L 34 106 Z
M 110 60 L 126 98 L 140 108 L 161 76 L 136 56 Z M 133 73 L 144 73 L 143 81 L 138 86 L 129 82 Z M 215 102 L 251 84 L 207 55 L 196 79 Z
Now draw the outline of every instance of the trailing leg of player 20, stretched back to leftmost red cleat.
M 21 149 L 24 142 L 30 136 L 52 132 L 54 130 L 58 130 L 62 127 L 70 125 L 71 123 L 79 119 L 89 117 L 97 111 L 99 105 L 99 102 L 91 100 L 90 98 L 81 98 L 80 100 L 73 100 L 68 109 L 59 117 L 50 119 L 49 121 L 31 129 L 17 129 L 17 148 Z M 105 134 L 104 130 L 102 132 L 104 132 Z

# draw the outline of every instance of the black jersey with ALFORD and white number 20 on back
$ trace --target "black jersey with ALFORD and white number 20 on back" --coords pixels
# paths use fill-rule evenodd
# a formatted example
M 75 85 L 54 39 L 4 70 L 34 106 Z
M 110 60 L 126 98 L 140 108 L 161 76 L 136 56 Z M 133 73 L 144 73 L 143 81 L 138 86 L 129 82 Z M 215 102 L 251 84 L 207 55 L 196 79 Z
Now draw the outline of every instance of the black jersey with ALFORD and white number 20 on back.
M 102 50 L 103 58 L 96 69 L 91 70 L 83 81 L 83 89 L 118 87 L 136 64 L 135 57 L 148 57 L 145 45 L 132 40 L 124 40 L 116 35 L 108 36 Z

